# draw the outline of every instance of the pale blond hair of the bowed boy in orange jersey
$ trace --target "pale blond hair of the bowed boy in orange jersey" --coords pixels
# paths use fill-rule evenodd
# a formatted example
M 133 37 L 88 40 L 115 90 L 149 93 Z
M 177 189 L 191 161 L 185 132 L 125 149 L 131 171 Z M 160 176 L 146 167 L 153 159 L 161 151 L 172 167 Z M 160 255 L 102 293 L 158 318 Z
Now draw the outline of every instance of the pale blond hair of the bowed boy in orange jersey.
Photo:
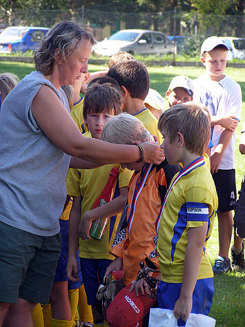
M 101 132 L 101 140 L 117 144 L 154 142 L 153 135 L 144 128 L 143 123 L 127 112 L 106 121 Z

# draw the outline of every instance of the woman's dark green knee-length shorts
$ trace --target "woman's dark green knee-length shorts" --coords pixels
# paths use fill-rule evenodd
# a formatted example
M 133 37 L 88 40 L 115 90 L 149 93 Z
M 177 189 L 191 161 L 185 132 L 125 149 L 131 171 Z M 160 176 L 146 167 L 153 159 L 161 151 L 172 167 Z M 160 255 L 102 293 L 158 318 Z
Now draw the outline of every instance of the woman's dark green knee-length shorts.
M 48 304 L 60 256 L 60 233 L 52 237 L 3 224 L 0 221 L 0 301 L 17 298 Z

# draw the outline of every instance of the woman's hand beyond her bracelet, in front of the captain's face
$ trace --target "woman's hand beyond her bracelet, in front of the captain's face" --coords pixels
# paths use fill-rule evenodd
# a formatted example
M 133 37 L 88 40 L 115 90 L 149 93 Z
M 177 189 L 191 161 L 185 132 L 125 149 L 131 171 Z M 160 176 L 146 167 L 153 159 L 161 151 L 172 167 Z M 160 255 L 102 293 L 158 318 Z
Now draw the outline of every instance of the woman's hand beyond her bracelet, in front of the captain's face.
M 158 143 L 144 142 L 140 145 L 144 151 L 144 162 L 159 165 L 164 161 L 165 155 Z

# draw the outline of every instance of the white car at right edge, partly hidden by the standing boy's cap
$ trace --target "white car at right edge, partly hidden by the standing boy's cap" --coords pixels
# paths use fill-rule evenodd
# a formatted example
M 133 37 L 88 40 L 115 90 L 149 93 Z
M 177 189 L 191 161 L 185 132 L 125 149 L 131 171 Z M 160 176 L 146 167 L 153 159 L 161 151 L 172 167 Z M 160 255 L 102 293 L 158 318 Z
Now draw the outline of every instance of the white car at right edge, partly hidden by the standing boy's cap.
M 245 59 L 245 39 L 242 37 L 222 37 L 230 51 L 227 59 L 233 58 Z

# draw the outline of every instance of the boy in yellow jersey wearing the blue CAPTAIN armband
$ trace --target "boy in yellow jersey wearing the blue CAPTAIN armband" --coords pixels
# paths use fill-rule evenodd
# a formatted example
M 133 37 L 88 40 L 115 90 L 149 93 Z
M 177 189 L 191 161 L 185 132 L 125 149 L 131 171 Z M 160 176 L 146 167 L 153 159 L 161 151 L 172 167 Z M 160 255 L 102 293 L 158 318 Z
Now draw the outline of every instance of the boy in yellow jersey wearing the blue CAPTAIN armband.
M 217 194 L 203 157 L 210 116 L 200 106 L 180 103 L 161 115 L 158 126 L 166 159 L 169 164 L 182 162 L 183 169 L 173 178 L 156 221 L 161 270 L 157 301 L 159 308 L 173 310 L 178 326 L 185 326 L 190 313 L 208 315 L 214 292 L 206 242 Z M 146 292 L 154 296 L 148 286 Z

